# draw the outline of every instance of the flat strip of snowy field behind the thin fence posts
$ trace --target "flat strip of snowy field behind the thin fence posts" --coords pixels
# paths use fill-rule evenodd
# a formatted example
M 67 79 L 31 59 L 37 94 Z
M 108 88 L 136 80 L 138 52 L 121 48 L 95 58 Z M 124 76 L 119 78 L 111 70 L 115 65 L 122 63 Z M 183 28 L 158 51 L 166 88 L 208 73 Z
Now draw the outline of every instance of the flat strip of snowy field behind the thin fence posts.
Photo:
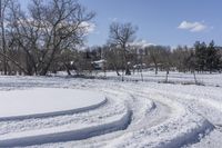
M 119 80 L 122 79 L 121 77 L 117 77 L 117 73 L 113 71 L 109 71 L 107 73 L 98 72 L 93 75 L 95 77 L 105 76 L 108 79 L 119 79 Z M 148 81 L 148 82 L 163 82 L 165 81 L 165 75 L 167 75 L 165 71 L 159 71 L 158 75 L 155 75 L 154 71 L 143 70 L 142 77 L 141 77 L 141 72 L 140 71 L 138 72 L 135 70 L 134 72 L 132 72 L 131 76 L 124 76 L 124 79 L 135 80 L 135 81 L 141 81 L 143 79 L 143 81 Z M 208 86 L 222 86 L 222 79 L 221 79 L 222 73 L 209 73 L 209 72 L 196 73 L 195 72 L 195 76 L 199 83 L 208 85 Z M 176 72 L 176 71 L 170 71 L 168 81 L 174 82 L 174 83 L 194 83 L 195 82 L 193 73 Z

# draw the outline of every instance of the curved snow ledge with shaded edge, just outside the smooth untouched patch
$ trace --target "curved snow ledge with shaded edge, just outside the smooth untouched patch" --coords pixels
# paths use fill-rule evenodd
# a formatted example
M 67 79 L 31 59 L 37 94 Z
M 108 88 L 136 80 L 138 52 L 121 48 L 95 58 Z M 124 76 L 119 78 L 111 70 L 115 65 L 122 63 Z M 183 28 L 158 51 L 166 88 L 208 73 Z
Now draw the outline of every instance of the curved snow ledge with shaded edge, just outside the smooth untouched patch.
M 29 146 L 29 145 L 40 145 L 40 144 L 56 142 L 56 141 L 58 142 L 58 141 L 80 140 L 80 139 L 85 139 L 85 138 L 90 138 L 90 137 L 93 137 L 93 136 L 104 135 L 107 132 L 112 132 L 112 131 L 125 129 L 130 125 L 130 121 L 131 121 L 131 115 L 132 115 L 131 110 L 128 108 L 128 106 L 124 106 L 120 101 L 114 102 L 113 99 L 109 99 L 108 102 L 109 102 L 110 106 L 104 106 L 104 107 L 101 107 L 99 110 L 93 110 L 95 114 L 91 115 L 92 121 L 94 120 L 93 118 L 97 118 L 97 117 L 99 119 L 105 120 L 105 118 L 109 118 L 109 116 L 111 116 L 111 117 L 115 116 L 115 115 L 119 116 L 119 114 L 121 114 L 121 112 L 119 112 L 119 110 L 121 111 L 122 109 L 125 108 L 124 110 L 122 110 L 122 111 L 124 111 L 124 114 L 120 119 L 113 119 L 113 120 L 107 121 L 107 122 L 103 121 L 103 124 L 98 124 L 98 125 L 94 125 L 94 126 L 92 125 L 90 127 L 88 126 L 87 128 L 81 128 L 81 129 L 77 129 L 77 130 L 70 129 L 70 130 L 67 130 L 67 131 L 54 131 L 54 132 L 40 134 L 40 135 L 33 135 L 33 129 L 24 130 L 24 131 L 20 132 L 21 136 L 17 136 L 17 134 L 16 134 L 14 138 L 9 138 L 9 139 L 8 138 L 4 138 L 4 139 L 0 138 L 1 139 L 0 140 L 0 147 Z M 120 106 L 120 107 L 124 106 L 124 108 L 121 107 L 122 108 L 121 109 L 119 107 L 117 108 L 115 106 L 117 107 L 118 106 Z M 105 107 L 108 107 L 108 108 L 105 109 Z M 109 112 L 104 114 L 104 112 L 102 112 L 102 110 L 109 110 Z M 93 112 L 93 111 L 89 111 L 89 112 Z M 114 114 L 114 115 L 112 115 L 112 114 Z M 85 115 L 85 114 L 82 112 L 82 115 Z M 60 118 L 60 117 L 56 117 L 56 118 L 62 120 L 62 118 Z M 79 117 L 79 118 L 80 118 L 80 120 L 81 119 L 84 120 L 85 118 L 89 118 L 89 116 L 88 117 Z M 53 119 L 53 117 L 52 117 L 52 119 Z M 41 119 L 31 119 L 31 120 L 33 120 L 32 122 L 34 124 L 36 120 L 41 120 Z M 43 120 L 47 121 L 48 118 L 43 118 Z M 52 120 L 52 121 L 56 122 L 56 120 Z M 9 122 L 7 122 L 7 125 L 10 129 Z M 18 121 L 16 120 L 13 122 L 17 124 Z M 23 122 L 23 124 L 19 124 L 19 125 L 22 125 L 22 126 L 26 127 L 26 122 Z M 18 126 L 18 125 L 16 125 L 16 126 Z M 33 127 L 31 127 L 31 128 L 33 128 Z M 61 126 L 57 126 L 56 128 L 61 128 Z M 13 130 L 13 128 L 12 128 L 12 130 Z M 44 128 L 40 128 L 38 130 L 40 130 L 41 132 L 46 132 Z M 31 131 L 31 134 L 29 131 Z M 14 131 L 11 131 L 11 132 L 13 135 Z M 9 135 L 11 132 L 9 132 Z M 3 137 L 6 137 L 6 136 L 7 136 L 7 134 L 3 134 Z

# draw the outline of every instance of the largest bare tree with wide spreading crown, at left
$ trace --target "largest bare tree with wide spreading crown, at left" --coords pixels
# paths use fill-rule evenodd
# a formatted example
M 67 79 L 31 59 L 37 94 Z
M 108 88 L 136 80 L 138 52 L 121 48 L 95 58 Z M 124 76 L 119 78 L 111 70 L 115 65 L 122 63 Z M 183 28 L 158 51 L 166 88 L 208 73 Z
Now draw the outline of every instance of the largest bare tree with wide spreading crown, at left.
M 26 53 L 28 75 L 42 76 L 63 50 L 83 43 L 94 17 L 75 0 L 32 0 L 28 12 L 12 9 L 11 34 Z

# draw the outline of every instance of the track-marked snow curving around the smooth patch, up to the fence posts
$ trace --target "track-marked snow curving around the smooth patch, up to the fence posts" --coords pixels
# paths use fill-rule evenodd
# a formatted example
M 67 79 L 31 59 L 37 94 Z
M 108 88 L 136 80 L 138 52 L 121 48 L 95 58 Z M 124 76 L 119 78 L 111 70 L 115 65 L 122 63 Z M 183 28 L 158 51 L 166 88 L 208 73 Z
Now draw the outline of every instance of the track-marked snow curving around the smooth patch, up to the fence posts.
M 222 79 L 222 77 L 221 77 Z M 44 77 L 1 77 L 0 91 L 69 88 L 103 93 L 91 110 L 0 121 L 0 147 L 198 147 L 222 145 L 222 88 Z

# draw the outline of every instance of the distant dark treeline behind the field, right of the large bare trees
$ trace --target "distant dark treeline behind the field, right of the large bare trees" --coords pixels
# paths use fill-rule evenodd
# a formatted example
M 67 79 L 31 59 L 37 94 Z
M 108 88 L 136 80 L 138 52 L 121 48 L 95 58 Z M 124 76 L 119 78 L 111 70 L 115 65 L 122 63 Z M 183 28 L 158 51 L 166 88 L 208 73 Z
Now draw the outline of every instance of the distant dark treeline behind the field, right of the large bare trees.
M 118 75 L 125 70 L 121 47 L 102 46 L 88 49 L 92 61 L 105 59 L 105 69 L 115 70 Z M 88 53 L 89 55 L 89 53 Z M 196 41 L 193 47 L 178 46 L 172 49 L 165 46 L 134 46 L 128 47 L 125 59 L 129 69 L 141 70 L 149 68 L 158 73 L 161 71 L 180 72 L 221 72 L 222 48 L 216 47 L 213 41 L 208 46 L 205 42 Z

